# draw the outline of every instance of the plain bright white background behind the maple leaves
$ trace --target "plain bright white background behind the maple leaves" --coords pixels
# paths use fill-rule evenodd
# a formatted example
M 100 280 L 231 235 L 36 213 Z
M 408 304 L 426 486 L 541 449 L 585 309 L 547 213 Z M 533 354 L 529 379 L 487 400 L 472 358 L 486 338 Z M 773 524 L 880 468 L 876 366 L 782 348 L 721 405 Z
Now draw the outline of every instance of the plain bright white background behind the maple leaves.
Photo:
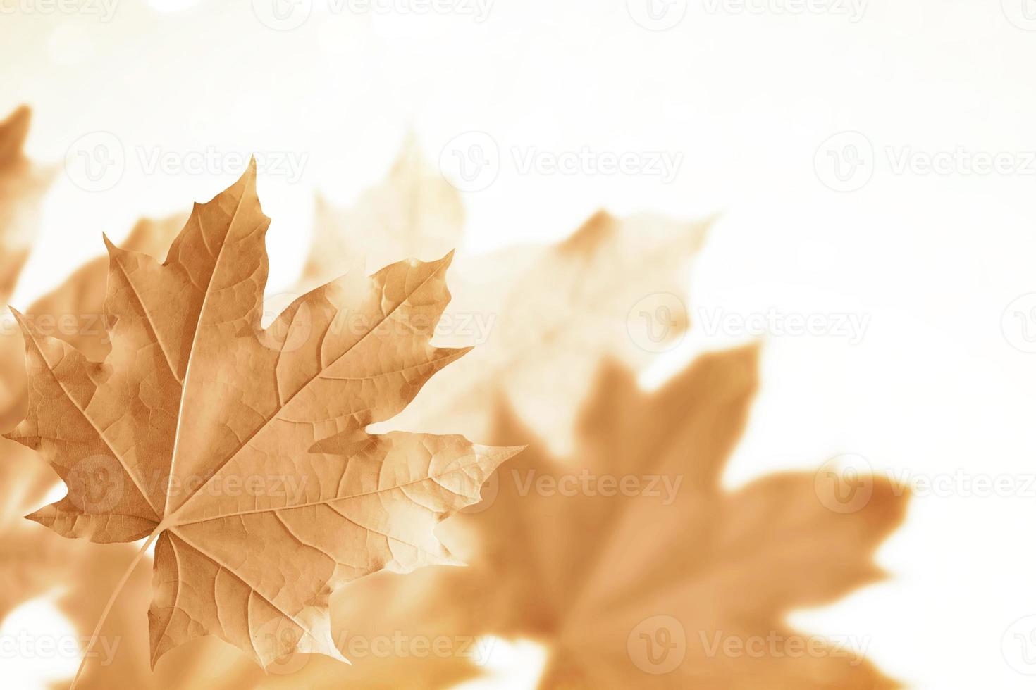
M 700 309 L 717 308 L 868 319 L 856 343 L 765 336 L 762 388 L 730 486 L 839 453 L 912 481 L 1017 477 L 1006 496 L 956 484 L 917 496 L 879 553 L 890 579 L 794 622 L 866 636 L 868 656 L 912 687 L 1031 687 L 1019 670 L 1036 664 L 1018 662 L 1019 629 L 1008 629 L 1036 613 L 1036 488 L 1025 481 L 1036 474 L 1036 354 L 1023 352 L 1036 320 L 1030 304 L 1008 306 L 1036 292 L 1036 31 L 1026 30 L 1036 4 L 813 0 L 796 12 L 795 0 L 750 10 L 654 1 L 663 24 L 682 19 L 649 30 L 633 19 L 645 17 L 640 0 L 497 0 L 482 22 L 317 3 L 298 28 L 277 31 L 257 18 L 268 12 L 262 0 L 258 13 L 240 1 L 126 0 L 107 22 L 90 6 L 49 13 L 0 0 L 18 8 L 0 17 L 0 111 L 33 106 L 29 153 L 60 161 L 97 130 L 124 151 L 104 191 L 59 176 L 13 302 L 100 253 L 102 231 L 117 240 L 140 215 L 207 200 L 240 172 L 149 173 L 140 151 L 154 147 L 308 156 L 298 181 L 260 180 L 274 218 L 271 292 L 293 283 L 308 251 L 314 189 L 354 199 L 408 130 L 433 161 L 467 131 L 498 147 L 495 181 L 464 196 L 466 251 L 560 238 L 600 207 L 719 214 L 691 282 L 698 326 Z M 825 144 L 843 131 L 862 139 Z M 848 170 L 846 143 L 870 178 L 836 191 L 831 166 L 841 156 Z M 683 159 L 669 183 L 523 174 L 516 147 Z M 916 162 L 958 148 L 1016 164 L 897 170 L 906 153 Z M 699 330 L 644 383 L 738 339 Z

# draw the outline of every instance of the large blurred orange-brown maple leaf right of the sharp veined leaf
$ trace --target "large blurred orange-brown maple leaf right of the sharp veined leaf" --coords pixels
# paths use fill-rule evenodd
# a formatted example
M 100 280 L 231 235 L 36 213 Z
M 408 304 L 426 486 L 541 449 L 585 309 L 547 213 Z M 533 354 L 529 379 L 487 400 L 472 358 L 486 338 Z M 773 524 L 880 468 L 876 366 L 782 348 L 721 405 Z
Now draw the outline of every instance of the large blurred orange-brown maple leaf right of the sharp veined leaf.
M 478 545 L 464 554 L 469 568 L 396 578 L 395 588 L 383 574 L 357 589 L 388 606 L 424 588 L 435 604 L 412 614 L 413 631 L 541 641 L 542 688 L 895 687 L 785 617 L 879 579 L 873 551 L 901 521 L 905 498 L 874 477 L 865 505 L 831 510 L 835 487 L 812 474 L 724 490 L 756 358 L 754 348 L 702 356 L 653 394 L 607 364 L 574 457 L 534 444 L 487 486 L 471 509 L 481 512 L 451 521 L 451 546 L 465 536 Z M 501 414 L 497 442 L 529 437 Z M 385 593 L 377 582 L 390 582 Z

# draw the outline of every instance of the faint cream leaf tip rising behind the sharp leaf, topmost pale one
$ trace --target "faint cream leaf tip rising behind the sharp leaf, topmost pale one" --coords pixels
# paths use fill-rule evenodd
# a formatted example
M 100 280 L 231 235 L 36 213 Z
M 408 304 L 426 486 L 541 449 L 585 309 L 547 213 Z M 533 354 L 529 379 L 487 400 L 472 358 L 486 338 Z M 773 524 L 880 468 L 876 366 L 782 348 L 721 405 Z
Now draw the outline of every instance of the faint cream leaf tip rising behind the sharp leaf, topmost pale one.
M 400 259 L 431 261 L 461 243 L 463 228 L 460 196 L 411 136 L 385 181 L 353 207 L 338 209 L 317 197 L 314 250 L 304 274 L 309 284 L 322 284 L 342 273 L 343 261 L 366 261 L 369 272 Z

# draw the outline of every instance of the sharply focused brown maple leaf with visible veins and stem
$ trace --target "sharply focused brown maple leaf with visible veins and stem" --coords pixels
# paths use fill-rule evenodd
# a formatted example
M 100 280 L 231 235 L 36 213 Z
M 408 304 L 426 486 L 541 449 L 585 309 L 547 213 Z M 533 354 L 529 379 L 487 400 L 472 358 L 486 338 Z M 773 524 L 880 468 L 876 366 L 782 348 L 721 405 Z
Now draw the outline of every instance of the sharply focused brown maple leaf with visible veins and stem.
M 29 404 L 8 436 L 69 490 L 30 518 L 98 543 L 157 537 L 152 665 L 207 634 L 263 666 L 341 658 L 329 594 L 454 563 L 432 529 L 518 450 L 365 431 L 465 352 L 429 343 L 449 256 L 347 274 L 262 330 L 268 222 L 253 164 L 195 206 L 165 263 L 109 243 L 103 363 L 19 316 Z

